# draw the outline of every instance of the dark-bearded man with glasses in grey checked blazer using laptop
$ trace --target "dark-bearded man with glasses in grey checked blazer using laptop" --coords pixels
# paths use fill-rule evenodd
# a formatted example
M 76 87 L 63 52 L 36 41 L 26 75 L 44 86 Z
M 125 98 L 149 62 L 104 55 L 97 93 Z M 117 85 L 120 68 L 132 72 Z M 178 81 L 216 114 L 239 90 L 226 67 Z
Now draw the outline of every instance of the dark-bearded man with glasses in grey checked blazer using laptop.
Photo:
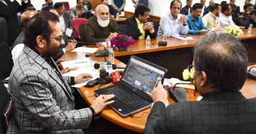
M 92 78 L 89 74 L 62 76 L 52 56 L 64 44 L 58 16 L 49 11 L 35 14 L 25 29 L 24 50 L 9 79 L 13 111 L 7 133 L 45 131 L 83 133 L 96 114 L 114 101 L 100 95 L 91 107 L 75 110 L 70 85 Z

